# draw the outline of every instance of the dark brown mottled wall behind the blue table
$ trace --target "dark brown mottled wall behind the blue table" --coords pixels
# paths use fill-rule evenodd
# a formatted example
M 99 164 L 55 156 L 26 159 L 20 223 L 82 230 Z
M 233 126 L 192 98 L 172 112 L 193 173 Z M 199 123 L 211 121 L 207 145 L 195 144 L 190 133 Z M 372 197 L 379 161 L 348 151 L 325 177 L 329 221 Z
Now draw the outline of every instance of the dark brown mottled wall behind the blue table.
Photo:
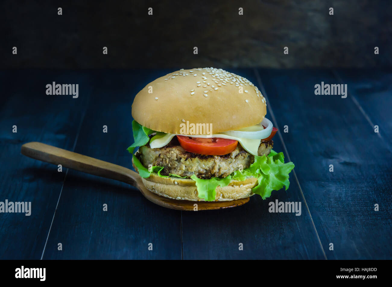
M 0 68 L 392 65 L 390 0 L 6 0 L 0 5 Z

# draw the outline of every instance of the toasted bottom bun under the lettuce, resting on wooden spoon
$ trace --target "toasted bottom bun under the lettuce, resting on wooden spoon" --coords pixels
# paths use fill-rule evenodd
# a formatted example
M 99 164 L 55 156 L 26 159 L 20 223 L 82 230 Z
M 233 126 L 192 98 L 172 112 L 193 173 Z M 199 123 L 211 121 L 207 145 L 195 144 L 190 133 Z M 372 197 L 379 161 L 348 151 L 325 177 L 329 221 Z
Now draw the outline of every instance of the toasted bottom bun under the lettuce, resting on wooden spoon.
M 132 160 L 133 163 L 133 160 Z M 133 165 L 136 171 L 138 169 Z M 162 178 L 151 173 L 148 178 L 142 178 L 145 187 L 160 196 L 176 200 L 205 201 L 198 197 L 196 182 L 190 178 L 168 177 Z M 229 201 L 252 196 L 252 187 L 257 185 L 257 178 L 246 180 L 231 180 L 225 187 L 216 187 L 215 201 Z

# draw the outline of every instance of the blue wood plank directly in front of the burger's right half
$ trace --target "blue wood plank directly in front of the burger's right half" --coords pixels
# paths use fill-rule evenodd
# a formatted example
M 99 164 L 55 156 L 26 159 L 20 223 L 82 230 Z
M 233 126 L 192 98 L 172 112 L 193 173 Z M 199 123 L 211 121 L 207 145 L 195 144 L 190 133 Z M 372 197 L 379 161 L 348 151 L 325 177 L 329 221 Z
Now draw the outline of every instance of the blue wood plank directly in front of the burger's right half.
M 257 85 L 252 69 L 230 72 Z M 283 151 L 278 137 L 274 150 Z M 302 202 L 301 216 L 269 213 L 269 202 L 275 200 Z M 254 195 L 249 203 L 228 210 L 182 213 L 182 228 L 184 259 L 325 259 L 292 173 L 287 191 L 274 191 L 266 200 Z

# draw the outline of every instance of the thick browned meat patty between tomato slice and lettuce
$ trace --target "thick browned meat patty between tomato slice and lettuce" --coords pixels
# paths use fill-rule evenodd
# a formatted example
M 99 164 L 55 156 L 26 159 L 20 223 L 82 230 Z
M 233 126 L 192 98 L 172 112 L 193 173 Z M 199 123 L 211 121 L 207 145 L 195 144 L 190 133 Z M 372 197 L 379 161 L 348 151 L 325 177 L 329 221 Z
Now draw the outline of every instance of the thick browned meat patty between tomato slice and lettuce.
M 258 155 L 270 153 L 274 142 L 262 140 L 258 149 Z M 136 156 L 144 167 L 161 166 L 163 175 L 176 174 L 190 177 L 195 174 L 198 178 L 226 177 L 242 168 L 249 167 L 254 162 L 254 156 L 245 151 L 240 143 L 229 154 L 203 155 L 185 151 L 176 137 L 164 147 L 152 149 L 149 145 L 139 148 Z

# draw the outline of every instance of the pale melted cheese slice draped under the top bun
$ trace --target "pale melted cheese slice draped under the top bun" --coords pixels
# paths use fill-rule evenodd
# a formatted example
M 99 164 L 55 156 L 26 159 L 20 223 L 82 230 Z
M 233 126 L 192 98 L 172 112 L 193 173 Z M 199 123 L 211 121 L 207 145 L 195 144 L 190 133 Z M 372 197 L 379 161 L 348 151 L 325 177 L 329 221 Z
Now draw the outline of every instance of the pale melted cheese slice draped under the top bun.
M 257 151 L 261 142 L 261 140 L 254 140 L 252 138 L 238 138 L 236 136 L 228 136 L 226 134 L 212 134 L 212 136 L 207 134 L 157 134 L 156 136 L 152 137 L 150 141 L 150 147 L 152 149 L 164 147 L 176 135 L 190 136 L 192 138 L 228 138 L 230 140 L 238 140 L 245 151 L 256 156 L 258 155 Z

